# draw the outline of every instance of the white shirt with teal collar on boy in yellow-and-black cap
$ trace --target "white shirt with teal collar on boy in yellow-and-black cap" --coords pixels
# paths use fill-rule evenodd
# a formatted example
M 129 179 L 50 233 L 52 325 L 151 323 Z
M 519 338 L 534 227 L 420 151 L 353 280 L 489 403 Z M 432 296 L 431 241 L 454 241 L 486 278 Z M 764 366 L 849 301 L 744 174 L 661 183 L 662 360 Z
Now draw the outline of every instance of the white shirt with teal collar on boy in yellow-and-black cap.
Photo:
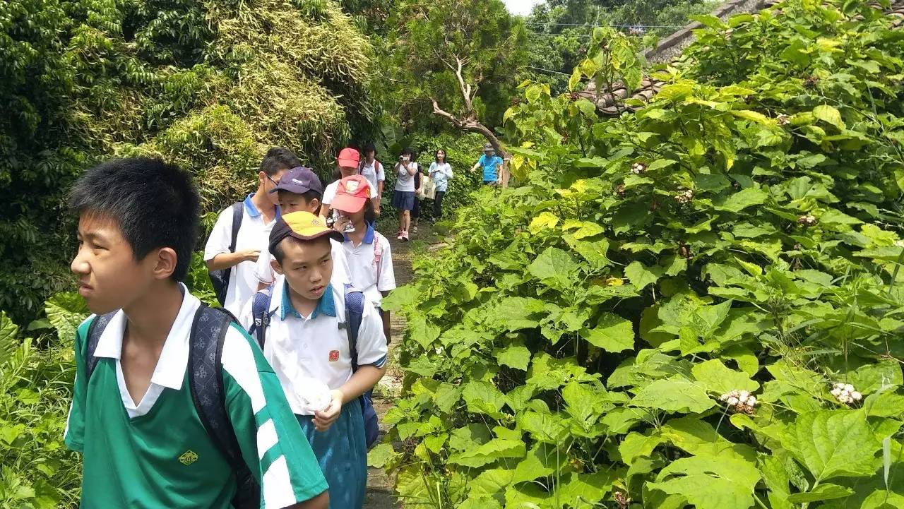
M 341 388 L 352 378 L 352 353 L 349 350 L 345 316 L 344 287 L 332 283 L 326 287 L 311 316 L 301 316 L 288 297 L 286 278 L 279 276 L 273 287 L 268 312 L 271 314 L 264 343 L 264 357 L 277 373 L 292 411 L 314 415 L 298 394 L 307 378 L 324 382 L 331 390 Z M 241 317 L 246 329 L 254 323 L 250 306 Z M 364 299 L 361 328 L 358 329 L 358 365 L 381 368 L 386 364 L 386 335 L 380 314 Z

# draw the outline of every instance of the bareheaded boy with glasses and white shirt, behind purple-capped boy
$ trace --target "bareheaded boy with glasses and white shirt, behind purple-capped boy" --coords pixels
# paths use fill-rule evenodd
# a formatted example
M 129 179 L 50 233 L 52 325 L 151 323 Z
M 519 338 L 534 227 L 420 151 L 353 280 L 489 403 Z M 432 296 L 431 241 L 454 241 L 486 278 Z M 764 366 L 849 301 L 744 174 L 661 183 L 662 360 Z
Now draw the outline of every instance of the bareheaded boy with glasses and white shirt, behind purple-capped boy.
M 233 315 L 239 315 L 258 288 L 255 262 L 279 216 L 278 195 L 271 192 L 289 168 L 300 165 L 291 150 L 270 148 L 260 163 L 257 192 L 220 212 L 213 226 L 204 261 L 220 304 Z

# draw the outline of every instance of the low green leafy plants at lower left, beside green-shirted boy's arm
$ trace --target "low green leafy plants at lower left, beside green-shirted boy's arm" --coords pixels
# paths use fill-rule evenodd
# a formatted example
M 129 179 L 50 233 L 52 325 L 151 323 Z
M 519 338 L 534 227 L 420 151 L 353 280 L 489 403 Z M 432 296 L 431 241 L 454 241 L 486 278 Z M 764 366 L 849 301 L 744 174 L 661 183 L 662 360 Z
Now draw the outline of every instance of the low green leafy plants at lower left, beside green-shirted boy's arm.
M 59 338 L 24 334 L 0 312 L 0 506 L 74 508 L 79 458 L 63 444 L 72 398 L 75 327 L 87 316 L 77 294 L 47 303 Z

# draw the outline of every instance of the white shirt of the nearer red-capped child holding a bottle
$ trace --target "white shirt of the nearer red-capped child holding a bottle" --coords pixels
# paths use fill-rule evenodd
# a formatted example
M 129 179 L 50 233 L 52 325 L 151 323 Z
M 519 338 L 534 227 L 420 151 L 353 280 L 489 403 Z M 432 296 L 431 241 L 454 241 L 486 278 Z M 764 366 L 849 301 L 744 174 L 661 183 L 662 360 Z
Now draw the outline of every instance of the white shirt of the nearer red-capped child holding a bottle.
M 374 307 L 380 308 L 383 300 L 380 292 L 388 292 L 396 287 L 389 240 L 368 224 L 361 244 L 355 246 L 346 235 L 342 247 L 348 259 L 352 286 L 361 290 L 364 298 Z

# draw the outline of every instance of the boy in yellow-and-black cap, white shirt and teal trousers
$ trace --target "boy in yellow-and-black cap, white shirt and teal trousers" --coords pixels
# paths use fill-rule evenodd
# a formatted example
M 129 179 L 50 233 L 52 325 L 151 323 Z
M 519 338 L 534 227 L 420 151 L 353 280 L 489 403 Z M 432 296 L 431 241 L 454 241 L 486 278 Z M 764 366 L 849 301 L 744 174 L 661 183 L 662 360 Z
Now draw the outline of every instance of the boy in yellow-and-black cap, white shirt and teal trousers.
M 331 509 L 360 509 L 367 485 L 363 413 L 386 371 L 381 317 L 361 292 L 330 284 L 330 239 L 343 235 L 310 212 L 283 215 L 270 232 L 277 278 L 259 342 L 329 485 Z M 245 324 L 250 325 L 250 324 Z M 373 419 L 372 422 L 370 419 Z M 365 423 L 367 428 L 365 430 Z

